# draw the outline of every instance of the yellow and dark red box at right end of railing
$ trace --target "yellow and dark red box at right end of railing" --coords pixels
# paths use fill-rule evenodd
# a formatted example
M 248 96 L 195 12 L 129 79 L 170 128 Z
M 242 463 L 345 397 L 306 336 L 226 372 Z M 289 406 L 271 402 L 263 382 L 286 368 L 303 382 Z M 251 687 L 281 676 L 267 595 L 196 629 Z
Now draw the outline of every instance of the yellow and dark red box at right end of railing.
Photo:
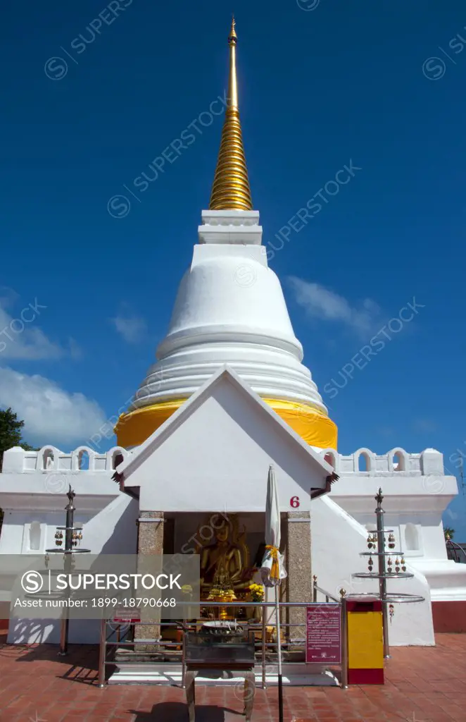
M 348 615 L 348 684 L 384 684 L 382 601 L 351 597 Z

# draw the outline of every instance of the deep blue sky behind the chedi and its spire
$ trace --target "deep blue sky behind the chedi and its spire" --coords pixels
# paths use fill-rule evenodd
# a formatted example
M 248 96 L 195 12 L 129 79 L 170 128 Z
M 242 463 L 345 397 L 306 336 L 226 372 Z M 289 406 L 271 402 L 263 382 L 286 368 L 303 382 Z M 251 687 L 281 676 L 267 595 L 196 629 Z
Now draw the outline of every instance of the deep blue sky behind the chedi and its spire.
M 144 192 L 124 186 L 224 95 L 230 12 L 212 0 L 4 9 L 1 328 L 34 318 L 0 336 L 0 405 L 26 419 L 31 443 L 87 440 L 154 358 L 208 205 L 222 116 L 197 123 Z M 339 450 L 434 447 L 456 473 L 466 10 L 236 0 L 234 12 L 253 203 Z M 337 176 L 345 166 L 359 170 Z M 112 217 L 121 194 L 131 207 Z M 413 300 L 413 319 L 392 321 Z M 465 498 L 446 519 L 466 541 Z

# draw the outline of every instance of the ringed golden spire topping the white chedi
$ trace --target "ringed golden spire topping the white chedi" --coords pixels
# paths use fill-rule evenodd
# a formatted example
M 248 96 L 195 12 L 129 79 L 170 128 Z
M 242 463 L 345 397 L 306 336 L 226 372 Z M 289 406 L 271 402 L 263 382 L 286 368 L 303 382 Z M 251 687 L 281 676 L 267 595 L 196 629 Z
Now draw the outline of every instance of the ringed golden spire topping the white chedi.
M 219 160 L 212 186 L 209 208 L 213 211 L 252 210 L 251 191 L 247 178 L 245 150 L 242 146 L 241 123 L 239 123 L 238 86 L 236 74 L 236 23 L 228 36 L 230 71 L 225 122 L 221 131 Z

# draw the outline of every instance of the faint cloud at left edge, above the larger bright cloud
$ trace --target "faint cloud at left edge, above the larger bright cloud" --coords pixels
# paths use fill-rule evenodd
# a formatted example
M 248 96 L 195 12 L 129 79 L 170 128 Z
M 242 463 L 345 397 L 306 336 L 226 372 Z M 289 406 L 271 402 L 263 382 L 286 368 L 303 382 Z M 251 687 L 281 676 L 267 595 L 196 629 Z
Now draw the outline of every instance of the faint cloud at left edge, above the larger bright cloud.
M 40 314 L 46 308 L 37 299 L 12 316 L 6 310 L 14 292 L 0 297 L 0 362 L 3 360 L 58 359 L 69 354 L 69 349 L 50 341 L 38 327 Z M 76 342 L 74 342 L 76 344 Z

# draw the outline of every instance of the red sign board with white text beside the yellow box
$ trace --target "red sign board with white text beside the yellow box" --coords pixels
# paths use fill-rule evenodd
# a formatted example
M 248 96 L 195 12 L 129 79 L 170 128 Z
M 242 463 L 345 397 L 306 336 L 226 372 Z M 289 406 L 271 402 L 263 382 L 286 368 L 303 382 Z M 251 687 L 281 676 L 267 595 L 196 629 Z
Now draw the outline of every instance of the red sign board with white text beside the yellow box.
M 309 604 L 306 609 L 306 661 L 341 664 L 340 604 Z

